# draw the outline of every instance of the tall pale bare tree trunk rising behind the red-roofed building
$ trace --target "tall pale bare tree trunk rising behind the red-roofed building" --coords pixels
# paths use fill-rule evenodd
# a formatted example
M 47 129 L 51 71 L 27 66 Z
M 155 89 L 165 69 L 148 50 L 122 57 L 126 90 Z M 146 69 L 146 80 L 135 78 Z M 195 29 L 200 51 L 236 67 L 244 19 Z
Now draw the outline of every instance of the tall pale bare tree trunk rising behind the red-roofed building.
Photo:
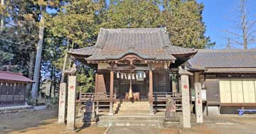
M 43 11 L 41 13 L 40 19 L 40 28 L 39 28 L 39 40 L 38 45 L 36 47 L 36 64 L 34 69 L 34 76 L 33 76 L 33 86 L 32 86 L 32 98 L 36 99 L 38 97 L 38 89 L 39 89 L 39 82 L 40 82 L 40 70 L 41 70 L 41 57 L 42 57 L 42 50 L 43 50 L 43 34 L 44 34 L 44 18 L 43 18 Z

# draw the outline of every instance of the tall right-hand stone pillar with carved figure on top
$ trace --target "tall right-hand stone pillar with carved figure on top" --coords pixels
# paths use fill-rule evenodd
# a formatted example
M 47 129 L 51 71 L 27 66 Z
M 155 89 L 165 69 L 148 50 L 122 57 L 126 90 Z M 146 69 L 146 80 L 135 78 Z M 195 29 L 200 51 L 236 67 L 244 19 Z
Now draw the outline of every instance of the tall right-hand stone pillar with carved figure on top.
M 182 96 L 182 124 L 183 128 L 191 128 L 191 109 L 189 103 L 189 83 L 188 75 L 192 75 L 185 69 L 179 67 L 178 73 L 181 74 L 181 96 Z

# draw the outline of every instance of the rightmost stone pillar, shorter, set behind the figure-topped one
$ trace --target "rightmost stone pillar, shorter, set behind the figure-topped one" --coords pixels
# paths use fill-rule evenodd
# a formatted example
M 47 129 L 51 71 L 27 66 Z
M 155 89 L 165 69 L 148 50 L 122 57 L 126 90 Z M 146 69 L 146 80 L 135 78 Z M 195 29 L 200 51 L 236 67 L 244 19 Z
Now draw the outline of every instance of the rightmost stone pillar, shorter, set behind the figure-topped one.
M 196 92 L 195 105 L 196 105 L 196 123 L 203 123 L 203 106 L 201 96 L 201 83 L 199 82 L 199 72 L 194 73 L 194 88 Z

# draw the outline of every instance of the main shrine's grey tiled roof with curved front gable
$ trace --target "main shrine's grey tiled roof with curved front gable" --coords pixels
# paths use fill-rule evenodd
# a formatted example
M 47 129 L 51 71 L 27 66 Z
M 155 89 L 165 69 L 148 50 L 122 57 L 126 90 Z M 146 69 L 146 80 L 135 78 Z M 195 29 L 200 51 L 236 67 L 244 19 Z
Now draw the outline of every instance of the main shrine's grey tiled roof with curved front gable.
M 101 28 L 95 46 L 69 53 L 87 60 L 114 60 L 129 52 L 142 59 L 174 61 L 175 55 L 193 55 L 196 50 L 171 45 L 166 28 Z

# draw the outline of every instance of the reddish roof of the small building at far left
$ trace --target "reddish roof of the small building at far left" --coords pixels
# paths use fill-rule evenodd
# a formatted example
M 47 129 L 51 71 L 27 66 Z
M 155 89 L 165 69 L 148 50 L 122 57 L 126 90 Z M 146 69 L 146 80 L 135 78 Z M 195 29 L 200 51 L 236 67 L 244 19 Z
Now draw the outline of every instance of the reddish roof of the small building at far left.
M 11 80 L 18 82 L 33 82 L 33 80 L 24 77 L 22 74 L 15 72 L 2 72 L 0 71 L 0 80 Z

